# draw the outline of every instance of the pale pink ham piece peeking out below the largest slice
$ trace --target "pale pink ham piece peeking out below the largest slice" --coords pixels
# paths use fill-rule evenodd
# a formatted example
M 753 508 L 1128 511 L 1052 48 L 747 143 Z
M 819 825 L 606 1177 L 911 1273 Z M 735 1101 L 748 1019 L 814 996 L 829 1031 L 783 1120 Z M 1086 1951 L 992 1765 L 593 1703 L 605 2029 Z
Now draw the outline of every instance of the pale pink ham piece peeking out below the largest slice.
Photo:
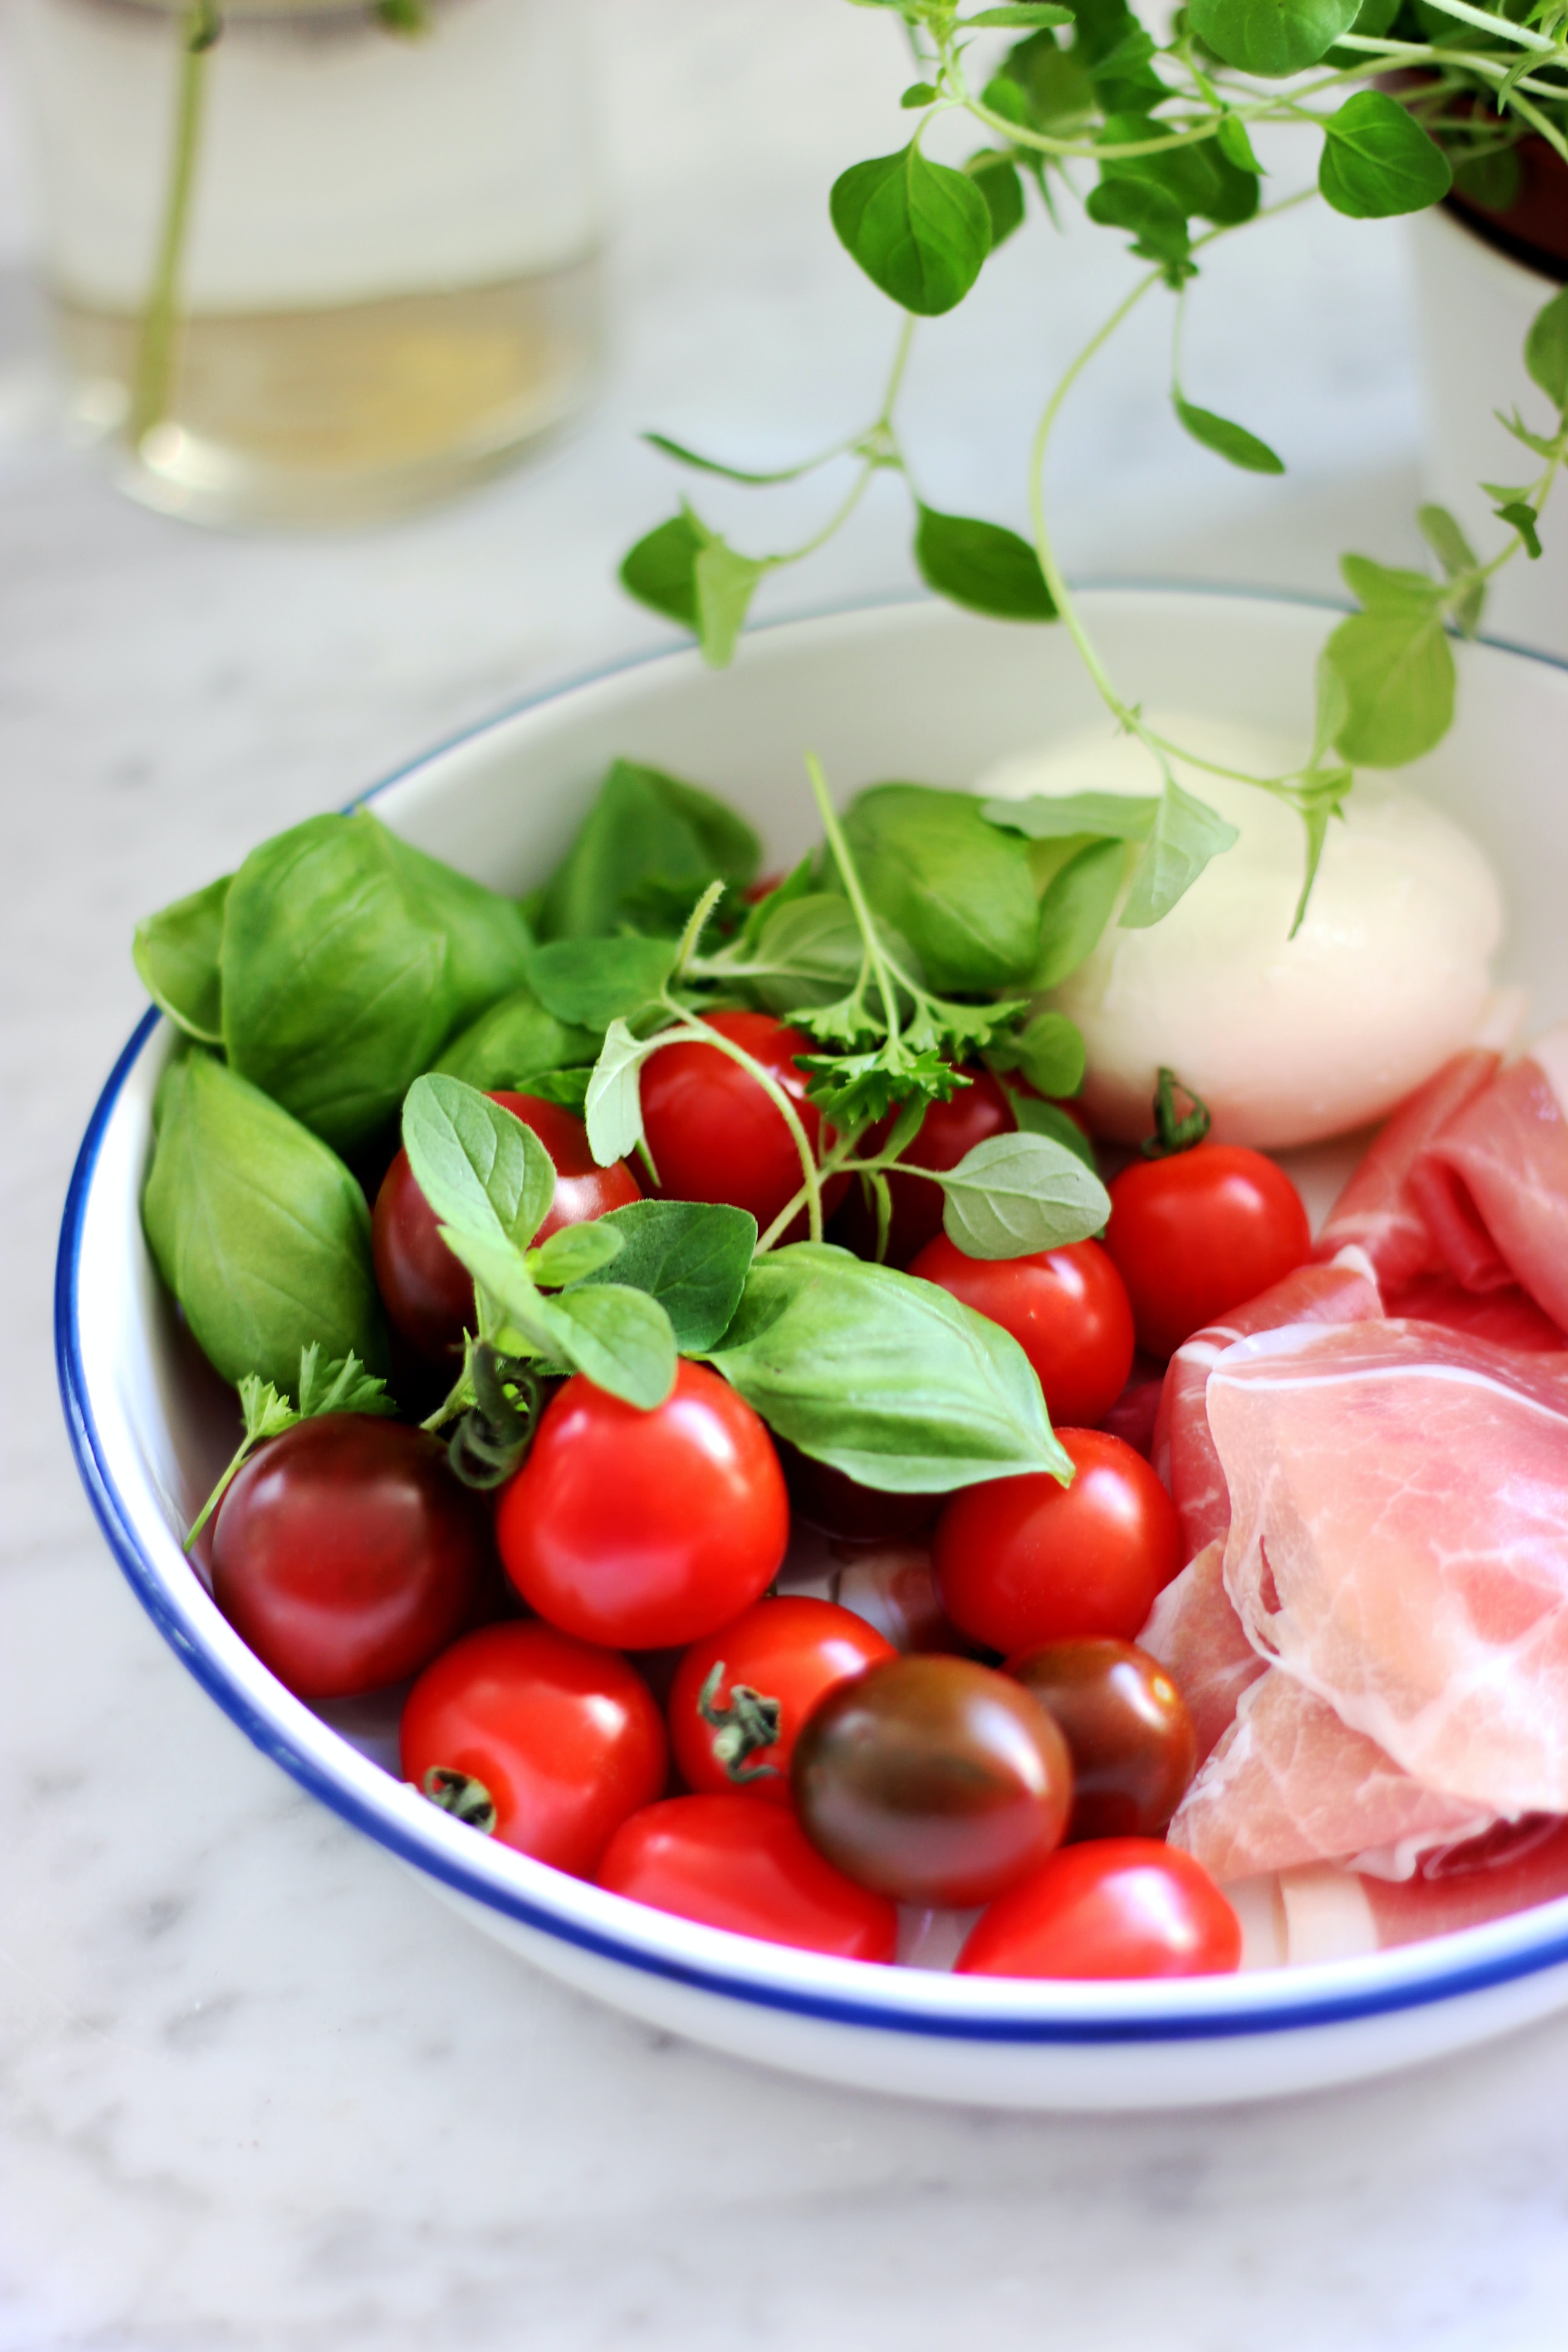
M 1241 1696 L 1168 1837 L 1220 1882 L 1371 1853 L 1385 1875 L 1403 1877 L 1427 1849 L 1481 1837 L 1493 1823 L 1490 1809 L 1422 1788 L 1272 1665 Z

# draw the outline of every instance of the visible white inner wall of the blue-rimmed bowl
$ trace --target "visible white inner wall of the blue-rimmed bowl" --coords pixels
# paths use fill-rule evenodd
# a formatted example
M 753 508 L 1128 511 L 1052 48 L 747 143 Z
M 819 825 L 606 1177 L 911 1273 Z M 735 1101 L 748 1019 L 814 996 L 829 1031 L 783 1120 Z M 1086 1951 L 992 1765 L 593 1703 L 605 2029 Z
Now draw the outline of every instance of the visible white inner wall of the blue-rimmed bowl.
M 1121 682 L 1150 706 L 1291 729 L 1309 739 L 1312 666 L 1333 612 L 1293 600 L 1178 590 L 1093 590 L 1084 609 Z M 1408 779 L 1467 823 L 1509 901 L 1500 978 L 1530 990 L 1540 1025 L 1568 1011 L 1561 880 L 1568 873 L 1568 666 L 1507 647 L 1460 649 L 1460 717 Z M 816 750 L 839 797 L 903 776 L 973 783 L 1004 753 L 1079 731 L 1100 715 L 1060 630 L 1001 628 L 947 607 L 903 604 L 783 623 L 705 673 L 693 654 L 656 656 L 541 699 L 428 755 L 374 795 L 376 814 L 484 882 L 520 891 L 564 851 L 616 755 L 670 767 L 726 795 L 762 830 L 771 863 L 816 835 L 802 753 Z M 181 1555 L 181 1534 L 233 1451 L 233 1397 L 183 1341 L 139 1221 L 150 1101 L 169 1047 L 141 1025 L 82 1145 L 59 1277 L 61 1383 L 99 1517 L 141 1599 L 219 1703 L 308 1788 L 369 1835 L 461 1893 L 642 1966 L 712 1980 L 858 1997 L 867 1978 L 893 2016 L 987 2013 L 1023 2020 L 1220 2016 L 1255 2009 L 1258 1978 L 1185 1985 L 1006 1985 L 924 1971 L 867 1971 L 750 1945 L 625 1905 L 494 1849 L 395 1780 L 395 1705 L 310 1710 L 289 1698 L 230 1632 Z M 1568 1903 L 1443 1938 L 1476 1964 L 1544 1964 Z M 1324 1985 L 1436 1983 L 1436 1947 L 1288 1971 L 1300 1999 Z M 1530 1959 L 1530 1952 L 1540 1955 Z M 1561 1957 L 1554 1952 L 1552 1957 Z M 1436 1966 L 1436 1978 L 1434 1978 Z M 1441 1990 L 1441 1987 L 1439 1987 Z M 1272 1980 L 1272 1999 L 1284 1992 Z M 886 2002 L 896 2011 L 886 2011 Z

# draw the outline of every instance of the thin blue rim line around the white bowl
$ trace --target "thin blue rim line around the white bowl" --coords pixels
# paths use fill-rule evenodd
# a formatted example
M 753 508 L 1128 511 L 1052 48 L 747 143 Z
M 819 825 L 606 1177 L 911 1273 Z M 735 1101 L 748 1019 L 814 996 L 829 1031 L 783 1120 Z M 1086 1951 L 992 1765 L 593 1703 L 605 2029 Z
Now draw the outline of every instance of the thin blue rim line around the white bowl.
M 1154 593 L 1154 595 L 1206 595 L 1206 597 L 1244 597 L 1248 602 L 1267 604 L 1295 604 L 1324 612 L 1345 612 L 1347 607 L 1333 597 L 1314 595 L 1291 595 L 1286 590 L 1258 590 L 1258 588 L 1232 588 L 1220 583 L 1187 583 L 1187 581 L 1150 581 L 1150 579 L 1095 579 L 1084 581 L 1081 588 L 1100 593 Z M 811 621 L 835 621 L 853 614 L 875 612 L 898 612 L 919 604 L 936 604 L 933 597 L 910 595 L 910 597 L 875 597 L 856 600 L 839 607 L 827 607 L 809 614 L 790 614 L 778 621 L 759 623 L 757 630 L 748 635 L 773 633 L 780 628 L 795 628 Z M 1568 661 L 1556 654 L 1537 652 L 1535 647 L 1509 644 L 1500 637 L 1479 637 L 1479 644 L 1488 644 L 1502 654 L 1516 654 L 1526 661 L 1540 661 L 1544 668 L 1568 670 Z M 545 687 L 538 694 L 529 694 L 517 703 L 505 706 L 475 727 L 465 727 L 454 736 L 447 736 L 418 760 L 407 762 L 390 776 L 357 793 L 350 807 L 362 807 L 364 802 L 378 797 L 390 786 L 400 783 L 404 776 L 416 774 L 433 760 L 444 757 L 461 743 L 473 743 L 496 727 L 508 724 L 527 710 L 536 710 L 545 703 L 564 701 L 588 687 L 604 684 L 611 677 L 628 675 L 632 670 L 646 668 L 658 661 L 691 659 L 689 647 L 672 649 L 649 649 L 635 652 L 621 661 L 602 663 L 592 670 L 578 673 L 559 684 Z M 59 1254 L 54 1263 L 54 1362 L 61 1404 L 66 1411 L 66 1430 L 71 1437 L 71 1451 L 75 1465 L 87 1489 L 92 1510 L 103 1529 L 110 1552 L 115 1555 L 127 1583 L 132 1585 L 136 1599 L 153 1618 L 165 1642 L 176 1651 L 181 1663 L 202 1684 L 209 1698 L 237 1724 L 244 1736 L 261 1748 L 275 1764 L 280 1764 L 294 1780 L 301 1783 L 313 1797 L 327 1804 L 334 1813 L 348 1820 L 355 1830 L 362 1830 L 376 1844 L 386 1846 L 397 1860 L 428 1877 L 442 1879 L 456 1893 L 487 1910 L 503 1912 L 517 1919 L 522 1926 L 536 1929 L 562 1943 L 571 1943 L 585 1952 L 602 1959 L 618 1962 L 623 1966 L 637 1969 L 642 1973 L 670 1978 L 675 1983 L 691 1985 L 701 1992 L 724 1994 L 729 1999 L 750 2002 L 764 2009 L 778 2009 L 795 2016 L 804 2016 L 830 2025 L 851 2027 L 875 2027 L 893 2034 L 919 2034 L 947 2042 L 1016 2042 L 1016 2044 L 1147 2044 L 1147 2042 L 1204 2042 L 1204 2039 L 1237 2039 L 1241 2034 L 1274 2034 L 1295 2032 L 1314 2025 L 1347 2025 L 1366 2018 L 1389 2016 L 1408 2009 L 1425 2009 L 1434 2002 L 1458 1999 L 1472 1992 L 1486 1992 L 1516 1983 L 1526 1976 L 1537 1976 L 1547 1969 L 1568 1964 L 1568 1926 L 1556 1933 L 1540 1936 L 1530 1940 L 1523 1950 L 1486 1955 L 1476 1959 L 1460 1959 L 1450 1966 L 1427 1964 L 1413 1980 L 1373 1985 L 1373 1987 L 1345 1987 L 1338 1990 L 1302 1990 L 1298 1997 L 1281 1997 L 1272 2002 L 1248 2004 L 1244 2011 L 1166 2011 L 1161 2016 L 1121 2016 L 1121 2018 L 1095 2018 L 1095 2016 L 964 2016 L 964 2013 L 933 2013 L 903 2006 L 884 2006 L 877 1999 L 849 1999 L 827 1992 L 792 1990 L 783 1985 L 755 1983 L 745 1976 L 731 1973 L 722 1966 L 703 1966 L 698 1962 L 682 1962 L 663 1952 L 651 1952 L 637 1943 L 625 1940 L 583 1922 L 564 1919 L 543 1903 L 531 1900 L 517 1889 L 496 1886 L 487 1877 L 465 1870 L 461 1858 L 447 1851 L 435 1851 L 421 1839 L 407 1835 L 395 1820 L 369 1806 L 357 1792 L 343 1788 L 334 1780 L 317 1762 L 303 1755 L 287 1733 L 280 1731 L 275 1722 L 256 1705 L 256 1700 L 235 1684 L 223 1661 L 202 1642 L 183 1616 L 174 1609 L 169 1595 L 165 1592 L 158 1566 L 143 1550 L 129 1508 L 125 1505 L 113 1475 L 108 1470 L 103 1446 L 99 1439 L 96 1421 L 92 1414 L 92 1399 L 87 1390 L 87 1369 L 82 1362 L 80 1343 L 80 1319 L 78 1319 L 78 1272 L 80 1272 L 80 1247 L 82 1225 L 87 1216 L 87 1202 L 92 1195 L 92 1183 L 96 1174 L 99 1150 L 103 1145 L 103 1134 L 118 1108 L 120 1094 L 127 1077 L 132 1075 L 143 1049 L 160 1028 L 162 1014 L 150 1007 L 143 1018 L 132 1030 L 120 1058 L 115 1061 L 99 1101 L 94 1103 L 87 1131 L 82 1136 L 75 1167 L 71 1171 L 71 1185 L 66 1190 L 66 1209 L 61 1218 Z M 574 1884 L 574 1882 L 569 1882 Z M 1556 1907 L 1556 1905 L 1554 1905 Z M 1516 1915 L 1521 1917 L 1521 1915 Z M 1493 1922 L 1502 1924 L 1502 1922 Z M 1486 1931 L 1481 1931 L 1486 1933 Z M 1429 1945 L 1406 1945 L 1401 1947 L 1401 1959 L 1406 1966 L 1420 1966 L 1413 1962 L 1415 1955 L 1429 1952 L 1434 1945 L 1450 1943 L 1453 1938 L 1432 1938 Z M 900 1976 L 914 1976 L 917 1971 L 900 1971 Z M 1324 1971 L 1312 1971 L 1321 1978 Z M 1201 1983 L 1201 1980 L 1199 1980 Z M 1213 1983 L 1213 1980 L 1208 1980 Z M 1227 1978 L 1225 1983 L 1234 1983 Z M 1253 1983 L 1258 1983 L 1253 1978 Z M 1164 1990 L 1164 1987 L 1161 1987 Z M 1171 1999 L 1180 2002 L 1175 1983 L 1171 1983 Z

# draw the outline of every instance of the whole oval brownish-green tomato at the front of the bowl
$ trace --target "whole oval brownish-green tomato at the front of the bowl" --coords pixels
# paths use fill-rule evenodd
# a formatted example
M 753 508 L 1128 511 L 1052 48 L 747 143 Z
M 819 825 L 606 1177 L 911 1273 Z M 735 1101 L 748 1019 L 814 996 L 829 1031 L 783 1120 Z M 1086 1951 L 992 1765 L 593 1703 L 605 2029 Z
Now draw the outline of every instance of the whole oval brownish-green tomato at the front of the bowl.
M 900 1903 L 987 1903 L 1058 1844 L 1067 1743 L 1006 1675 L 969 1658 L 891 1658 L 830 1691 L 795 1738 L 806 1837 Z

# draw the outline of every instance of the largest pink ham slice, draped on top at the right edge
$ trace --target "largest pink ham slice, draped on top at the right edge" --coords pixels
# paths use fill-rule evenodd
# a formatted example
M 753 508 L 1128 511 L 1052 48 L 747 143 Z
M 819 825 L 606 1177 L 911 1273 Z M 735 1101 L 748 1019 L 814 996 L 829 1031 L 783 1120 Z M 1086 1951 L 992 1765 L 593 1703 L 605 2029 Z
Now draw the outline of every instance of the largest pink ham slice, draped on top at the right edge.
M 1208 1425 L 1251 1639 L 1429 1790 L 1568 1813 L 1568 1355 L 1267 1331 Z

